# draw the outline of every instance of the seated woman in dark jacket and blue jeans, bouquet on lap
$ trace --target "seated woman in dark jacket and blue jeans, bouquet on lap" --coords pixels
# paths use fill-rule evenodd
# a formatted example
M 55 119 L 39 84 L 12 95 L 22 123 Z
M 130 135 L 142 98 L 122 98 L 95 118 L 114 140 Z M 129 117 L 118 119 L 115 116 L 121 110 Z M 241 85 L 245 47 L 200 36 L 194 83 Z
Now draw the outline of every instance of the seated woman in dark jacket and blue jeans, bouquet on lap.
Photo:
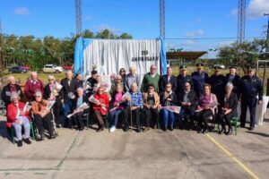
M 177 106 L 178 99 L 177 99 L 176 94 L 172 90 L 171 83 L 166 84 L 165 91 L 161 92 L 160 98 L 161 98 L 160 107 Z M 173 131 L 174 130 L 174 120 L 175 120 L 174 113 L 169 111 L 166 108 L 162 108 L 161 112 L 162 112 L 162 118 L 163 118 L 163 124 L 164 124 L 163 130 L 165 132 L 167 131 L 168 122 L 170 122 L 169 130 Z

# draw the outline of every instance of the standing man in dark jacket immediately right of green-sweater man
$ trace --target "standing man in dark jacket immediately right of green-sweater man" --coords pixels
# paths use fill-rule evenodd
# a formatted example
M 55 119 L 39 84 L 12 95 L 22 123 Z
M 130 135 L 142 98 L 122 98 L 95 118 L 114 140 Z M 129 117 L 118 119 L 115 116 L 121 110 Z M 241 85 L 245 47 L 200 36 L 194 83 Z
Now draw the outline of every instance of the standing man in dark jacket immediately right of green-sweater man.
M 168 83 L 172 85 L 172 91 L 175 92 L 177 89 L 177 78 L 173 75 L 173 70 L 170 66 L 167 68 L 167 74 L 161 76 L 160 92 L 165 91 L 165 87 Z

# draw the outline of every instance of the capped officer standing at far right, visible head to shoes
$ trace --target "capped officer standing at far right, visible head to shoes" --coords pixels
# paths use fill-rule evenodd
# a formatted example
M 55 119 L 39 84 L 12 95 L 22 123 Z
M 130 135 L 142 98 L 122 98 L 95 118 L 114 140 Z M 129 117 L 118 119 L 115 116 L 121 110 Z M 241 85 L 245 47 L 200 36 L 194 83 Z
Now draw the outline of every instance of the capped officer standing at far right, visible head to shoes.
M 255 128 L 256 104 L 260 105 L 263 100 L 263 84 L 262 81 L 254 75 L 254 68 L 247 66 L 247 75 L 242 77 L 239 86 L 241 94 L 241 116 L 240 127 L 245 127 L 247 107 L 250 113 L 249 130 L 253 131 Z M 258 95 L 258 99 L 256 96 Z

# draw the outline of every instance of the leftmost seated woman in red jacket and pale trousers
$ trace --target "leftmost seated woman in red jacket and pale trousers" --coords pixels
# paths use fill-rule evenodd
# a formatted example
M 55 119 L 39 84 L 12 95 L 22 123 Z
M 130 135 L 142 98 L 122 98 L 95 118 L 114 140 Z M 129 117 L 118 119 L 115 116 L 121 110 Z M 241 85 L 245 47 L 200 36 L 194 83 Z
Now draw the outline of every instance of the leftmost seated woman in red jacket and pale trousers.
M 12 92 L 12 103 L 7 107 L 7 122 L 6 125 L 14 127 L 17 137 L 18 147 L 22 147 L 22 125 L 24 127 L 24 141 L 30 144 L 30 116 L 28 111 L 24 111 L 25 104 L 19 101 L 19 94 Z

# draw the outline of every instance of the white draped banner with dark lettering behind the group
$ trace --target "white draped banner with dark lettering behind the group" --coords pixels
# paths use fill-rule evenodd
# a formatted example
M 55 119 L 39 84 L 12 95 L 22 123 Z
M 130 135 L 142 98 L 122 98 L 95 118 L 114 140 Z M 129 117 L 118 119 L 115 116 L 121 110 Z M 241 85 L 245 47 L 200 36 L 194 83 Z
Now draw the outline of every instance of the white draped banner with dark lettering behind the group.
M 97 71 L 105 75 L 118 73 L 120 68 L 134 65 L 136 73 L 143 75 L 150 72 L 150 66 L 156 64 L 160 73 L 161 40 L 111 40 L 93 39 L 84 50 L 83 76 L 87 79 L 91 75 L 92 65 L 95 64 Z

